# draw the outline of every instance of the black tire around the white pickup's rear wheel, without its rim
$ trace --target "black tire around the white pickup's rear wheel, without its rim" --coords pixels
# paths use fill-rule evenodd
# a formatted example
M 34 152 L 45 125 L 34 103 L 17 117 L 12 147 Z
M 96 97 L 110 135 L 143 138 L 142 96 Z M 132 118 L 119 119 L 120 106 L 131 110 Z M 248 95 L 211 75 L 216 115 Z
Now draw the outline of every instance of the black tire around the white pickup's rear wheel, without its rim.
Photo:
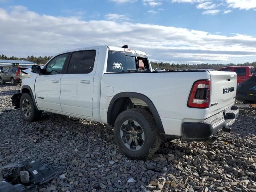
M 121 138 L 121 126 L 127 120 L 134 120 L 140 124 L 144 132 L 144 144 L 139 150 L 131 150 L 125 146 Z M 132 159 L 142 159 L 153 155 L 161 144 L 160 133 L 150 112 L 141 108 L 125 110 L 116 118 L 114 136 L 120 151 Z

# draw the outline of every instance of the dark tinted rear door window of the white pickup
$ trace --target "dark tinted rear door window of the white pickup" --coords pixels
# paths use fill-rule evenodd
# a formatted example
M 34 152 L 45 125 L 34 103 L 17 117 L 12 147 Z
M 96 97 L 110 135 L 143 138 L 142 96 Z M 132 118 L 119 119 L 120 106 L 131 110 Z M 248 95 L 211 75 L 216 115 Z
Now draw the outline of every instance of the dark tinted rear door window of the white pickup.
M 68 74 L 90 73 L 94 67 L 96 50 L 73 52 L 68 64 Z

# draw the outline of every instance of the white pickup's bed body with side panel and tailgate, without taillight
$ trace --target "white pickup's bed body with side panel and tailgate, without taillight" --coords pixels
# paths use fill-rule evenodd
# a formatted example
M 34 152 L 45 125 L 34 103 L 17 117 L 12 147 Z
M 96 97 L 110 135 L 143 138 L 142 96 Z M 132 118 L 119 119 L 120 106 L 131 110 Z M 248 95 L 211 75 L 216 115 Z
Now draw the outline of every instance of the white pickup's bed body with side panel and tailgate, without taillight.
M 231 80 L 230 75 L 232 76 Z M 210 104 L 206 109 L 187 106 L 191 88 L 197 80 L 211 79 Z M 113 89 L 112 96 L 120 92 L 137 92 L 147 96 L 155 105 L 162 120 L 166 134 L 181 135 L 183 122 L 201 122 L 234 104 L 236 88 L 233 92 L 223 94 L 223 88 L 236 85 L 236 73 L 205 70 L 184 70 L 166 72 L 130 72 L 104 73 L 102 88 Z M 235 86 L 236 87 L 236 86 Z M 108 106 L 112 96 L 107 93 L 105 105 Z M 103 98 L 103 97 L 102 97 Z M 218 103 L 218 104 L 216 104 Z M 107 107 L 106 107 L 107 109 Z M 172 127 L 170 127 L 172 125 Z

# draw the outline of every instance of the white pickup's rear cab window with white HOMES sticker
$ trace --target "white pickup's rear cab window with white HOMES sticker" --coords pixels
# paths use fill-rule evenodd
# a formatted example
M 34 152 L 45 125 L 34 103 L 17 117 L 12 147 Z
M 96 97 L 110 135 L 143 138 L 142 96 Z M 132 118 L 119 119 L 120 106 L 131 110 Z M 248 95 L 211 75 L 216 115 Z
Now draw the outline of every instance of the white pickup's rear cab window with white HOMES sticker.
M 107 72 L 150 72 L 148 57 L 135 52 L 108 51 Z

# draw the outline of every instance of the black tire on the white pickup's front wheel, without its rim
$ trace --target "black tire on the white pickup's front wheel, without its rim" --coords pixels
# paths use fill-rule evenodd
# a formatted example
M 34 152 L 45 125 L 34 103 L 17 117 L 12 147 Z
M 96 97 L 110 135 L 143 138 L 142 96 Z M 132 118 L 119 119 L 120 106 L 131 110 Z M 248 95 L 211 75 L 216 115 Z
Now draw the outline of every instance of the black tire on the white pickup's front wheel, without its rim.
M 29 104 L 30 104 L 30 115 L 26 116 L 22 110 L 22 103 L 24 100 L 28 100 Z M 20 113 L 22 118 L 27 121 L 27 122 L 33 122 L 38 120 L 41 117 L 42 112 L 38 111 L 35 106 L 34 106 L 34 102 L 31 98 L 31 95 L 28 93 L 24 93 L 22 94 L 22 96 L 20 97 Z

